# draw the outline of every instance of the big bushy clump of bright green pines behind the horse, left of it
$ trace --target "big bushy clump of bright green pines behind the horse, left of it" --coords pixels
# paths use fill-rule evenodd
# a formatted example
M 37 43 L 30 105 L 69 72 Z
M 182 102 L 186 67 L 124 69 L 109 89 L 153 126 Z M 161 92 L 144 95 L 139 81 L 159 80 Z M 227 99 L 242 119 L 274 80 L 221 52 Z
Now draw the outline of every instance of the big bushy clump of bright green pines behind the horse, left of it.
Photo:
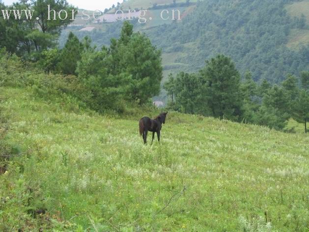
M 89 44 L 89 38 L 84 43 Z M 119 39 L 101 51 L 89 45 L 78 62 L 79 78 L 92 91 L 93 109 L 123 111 L 124 101 L 145 104 L 160 91 L 161 52 L 150 40 L 123 24 Z

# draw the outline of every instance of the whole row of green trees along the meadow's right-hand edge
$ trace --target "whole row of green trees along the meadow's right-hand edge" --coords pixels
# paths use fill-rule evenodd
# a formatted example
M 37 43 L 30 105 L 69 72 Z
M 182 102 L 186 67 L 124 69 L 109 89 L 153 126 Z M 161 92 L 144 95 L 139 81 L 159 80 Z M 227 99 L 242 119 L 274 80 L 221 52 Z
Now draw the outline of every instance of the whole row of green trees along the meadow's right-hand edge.
M 289 118 L 309 120 L 309 72 L 301 78 L 287 75 L 281 85 L 266 79 L 260 85 L 250 71 L 243 78 L 231 58 L 218 55 L 206 61 L 197 73 L 169 75 L 164 84 L 168 107 L 189 114 L 200 114 L 283 130 Z

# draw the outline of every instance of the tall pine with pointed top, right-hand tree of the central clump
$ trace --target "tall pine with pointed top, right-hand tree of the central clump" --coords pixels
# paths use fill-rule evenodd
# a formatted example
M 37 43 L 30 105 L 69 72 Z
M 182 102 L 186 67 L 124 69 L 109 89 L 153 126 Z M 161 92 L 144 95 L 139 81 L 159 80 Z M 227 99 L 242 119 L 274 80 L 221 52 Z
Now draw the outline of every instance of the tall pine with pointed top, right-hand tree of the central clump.
M 128 97 L 140 104 L 159 94 L 162 80 L 161 51 L 149 38 L 133 32 L 133 26 L 125 21 L 118 40 L 111 40 L 110 70 L 112 75 L 125 73 L 131 76 L 131 91 Z

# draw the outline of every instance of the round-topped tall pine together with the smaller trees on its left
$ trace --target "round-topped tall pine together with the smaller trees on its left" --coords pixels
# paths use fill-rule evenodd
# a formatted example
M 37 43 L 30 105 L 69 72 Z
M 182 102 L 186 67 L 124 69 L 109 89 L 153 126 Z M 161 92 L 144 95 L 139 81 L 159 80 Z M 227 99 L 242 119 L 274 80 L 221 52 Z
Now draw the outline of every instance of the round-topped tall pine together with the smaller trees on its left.
M 164 86 L 169 94 L 174 92 L 176 109 L 184 113 L 242 119 L 240 74 L 224 55 L 207 60 L 199 73 L 171 76 Z

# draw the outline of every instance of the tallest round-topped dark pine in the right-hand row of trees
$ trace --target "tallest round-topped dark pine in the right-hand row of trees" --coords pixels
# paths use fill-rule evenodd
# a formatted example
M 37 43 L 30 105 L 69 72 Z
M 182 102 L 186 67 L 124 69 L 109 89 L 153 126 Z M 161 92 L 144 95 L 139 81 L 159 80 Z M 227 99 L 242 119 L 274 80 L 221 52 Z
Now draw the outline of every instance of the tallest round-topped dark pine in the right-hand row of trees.
M 240 74 L 231 58 L 218 55 L 206 61 L 200 71 L 204 85 L 203 97 L 210 115 L 239 120 L 242 117 L 242 93 Z

